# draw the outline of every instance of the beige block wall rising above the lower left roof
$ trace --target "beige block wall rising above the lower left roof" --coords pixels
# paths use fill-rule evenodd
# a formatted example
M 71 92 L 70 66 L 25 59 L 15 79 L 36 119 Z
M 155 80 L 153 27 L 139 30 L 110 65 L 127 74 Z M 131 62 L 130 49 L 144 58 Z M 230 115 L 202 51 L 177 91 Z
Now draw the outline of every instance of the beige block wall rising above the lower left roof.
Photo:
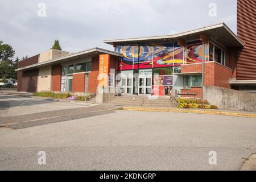
M 40 53 L 38 62 L 42 63 L 43 61 L 48 61 L 51 59 L 55 59 L 57 57 L 62 57 L 67 55 L 69 55 L 69 52 L 60 51 L 57 49 L 49 49 L 49 51 Z

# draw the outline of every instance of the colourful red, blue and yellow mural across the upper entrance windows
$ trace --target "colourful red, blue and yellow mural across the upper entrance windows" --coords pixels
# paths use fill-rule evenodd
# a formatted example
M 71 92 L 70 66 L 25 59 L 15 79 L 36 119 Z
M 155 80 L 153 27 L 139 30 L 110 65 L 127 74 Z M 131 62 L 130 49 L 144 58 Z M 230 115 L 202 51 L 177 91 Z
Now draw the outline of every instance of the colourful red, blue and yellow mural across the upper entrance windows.
M 140 46 L 118 46 L 123 54 L 118 70 L 178 67 L 182 64 L 201 63 L 203 44 L 200 41 L 188 43 L 187 48 L 174 44 L 141 44 Z M 205 46 L 208 60 L 209 46 Z

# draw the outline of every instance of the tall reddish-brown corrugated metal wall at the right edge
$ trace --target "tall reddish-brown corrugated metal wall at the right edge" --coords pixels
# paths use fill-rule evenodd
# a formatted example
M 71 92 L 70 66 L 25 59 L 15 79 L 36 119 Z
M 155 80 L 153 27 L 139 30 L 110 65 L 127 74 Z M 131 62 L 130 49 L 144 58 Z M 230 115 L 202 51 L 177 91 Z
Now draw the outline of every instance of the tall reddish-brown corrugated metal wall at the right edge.
M 237 80 L 256 80 L 255 0 L 237 0 L 237 36 L 245 42 L 237 52 Z

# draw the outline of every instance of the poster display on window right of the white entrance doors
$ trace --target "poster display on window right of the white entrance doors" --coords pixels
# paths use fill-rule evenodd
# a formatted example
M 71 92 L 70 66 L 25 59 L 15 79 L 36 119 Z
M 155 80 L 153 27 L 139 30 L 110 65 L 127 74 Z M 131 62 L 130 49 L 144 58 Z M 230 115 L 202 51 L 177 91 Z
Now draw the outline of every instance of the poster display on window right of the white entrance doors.
M 172 75 L 153 76 L 153 90 L 154 96 L 170 96 L 174 77 Z

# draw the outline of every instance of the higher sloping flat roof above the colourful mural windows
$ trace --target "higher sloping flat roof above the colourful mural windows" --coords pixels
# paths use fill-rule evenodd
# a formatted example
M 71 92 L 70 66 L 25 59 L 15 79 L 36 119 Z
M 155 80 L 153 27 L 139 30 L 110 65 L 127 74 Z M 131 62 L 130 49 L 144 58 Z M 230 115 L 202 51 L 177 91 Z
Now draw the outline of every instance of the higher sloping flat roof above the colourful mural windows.
M 131 42 L 150 42 L 150 41 L 166 41 L 165 39 L 177 39 L 185 38 L 189 35 L 202 34 L 204 33 L 208 37 L 214 38 L 217 42 L 220 42 L 226 47 L 243 47 L 243 42 L 237 37 L 236 34 L 225 23 L 213 24 L 211 26 L 205 26 L 197 28 L 195 30 L 182 32 L 174 35 L 161 35 L 161 36 L 150 36 L 142 38 L 129 38 L 129 39 L 113 39 L 104 40 L 104 43 L 113 45 L 114 43 L 131 43 Z

